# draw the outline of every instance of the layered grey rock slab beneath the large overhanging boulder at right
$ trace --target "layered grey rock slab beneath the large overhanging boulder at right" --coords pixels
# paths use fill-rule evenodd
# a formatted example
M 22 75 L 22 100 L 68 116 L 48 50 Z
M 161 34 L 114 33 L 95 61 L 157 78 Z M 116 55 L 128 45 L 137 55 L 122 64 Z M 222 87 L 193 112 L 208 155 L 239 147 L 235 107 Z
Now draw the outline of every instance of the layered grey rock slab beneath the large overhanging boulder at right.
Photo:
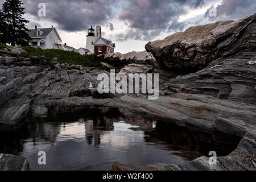
M 256 56 L 256 52 L 251 52 Z M 246 64 L 244 58 L 218 59 L 207 68 L 165 82 L 176 93 L 207 94 L 213 97 L 256 104 L 256 66 Z M 221 64 L 216 67 L 214 64 Z

